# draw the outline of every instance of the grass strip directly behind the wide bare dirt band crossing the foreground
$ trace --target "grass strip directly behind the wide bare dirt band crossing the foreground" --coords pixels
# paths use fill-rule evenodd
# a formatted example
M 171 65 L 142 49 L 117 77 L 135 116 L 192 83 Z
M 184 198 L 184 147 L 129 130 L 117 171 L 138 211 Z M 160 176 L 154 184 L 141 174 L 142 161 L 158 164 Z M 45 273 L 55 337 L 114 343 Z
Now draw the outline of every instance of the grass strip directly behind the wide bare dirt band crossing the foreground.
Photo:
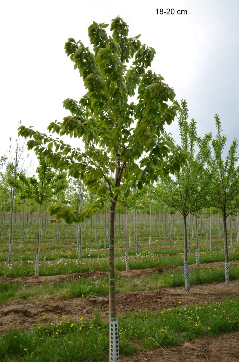
M 230 280 L 239 279 L 239 265 L 230 265 Z M 190 272 L 191 285 L 223 282 L 225 269 L 222 267 L 195 268 Z M 169 272 L 142 276 L 141 278 L 120 277 L 116 278 L 116 293 L 127 291 L 155 290 L 159 288 L 184 286 L 183 271 L 172 270 Z M 68 282 L 53 281 L 40 285 L 0 282 L 0 304 L 9 302 L 21 303 L 34 302 L 47 298 L 65 299 L 81 297 L 97 297 L 109 294 L 108 278 L 78 278 Z

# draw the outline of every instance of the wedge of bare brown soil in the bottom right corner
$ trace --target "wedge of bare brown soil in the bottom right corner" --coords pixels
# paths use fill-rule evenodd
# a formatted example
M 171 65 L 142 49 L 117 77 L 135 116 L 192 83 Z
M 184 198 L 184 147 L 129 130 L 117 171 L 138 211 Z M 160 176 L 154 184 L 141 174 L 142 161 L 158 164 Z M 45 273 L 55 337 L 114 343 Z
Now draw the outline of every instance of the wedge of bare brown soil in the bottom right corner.
M 133 357 L 121 357 L 121 362 L 238 362 L 239 332 L 223 333 L 218 337 L 200 338 L 194 342 L 168 348 L 140 353 Z M 169 353 L 175 358 L 169 356 Z

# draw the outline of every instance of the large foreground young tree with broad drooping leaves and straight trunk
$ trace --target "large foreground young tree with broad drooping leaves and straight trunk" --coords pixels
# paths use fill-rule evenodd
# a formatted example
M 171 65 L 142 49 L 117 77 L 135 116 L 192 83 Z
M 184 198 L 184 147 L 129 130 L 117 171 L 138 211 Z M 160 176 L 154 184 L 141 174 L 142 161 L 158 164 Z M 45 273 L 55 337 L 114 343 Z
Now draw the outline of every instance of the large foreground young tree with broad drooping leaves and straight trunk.
M 73 38 L 66 42 L 66 54 L 78 69 L 87 92 L 79 101 L 66 99 L 63 104 L 70 115 L 48 126 L 48 131 L 60 136 L 82 139 L 84 151 L 24 126 L 19 127 L 19 134 L 31 138 L 29 149 L 44 154 L 53 167 L 81 177 L 88 190 L 99 194 L 82 213 L 65 205 L 49 208 L 58 218 L 67 223 L 81 222 L 110 199 L 109 318 L 110 326 L 117 329 L 114 222 L 118 195 L 123 191 L 127 197 L 131 187 L 141 189 L 160 174 L 174 173 L 187 155 L 163 136 L 164 125 L 173 122 L 178 107 L 168 104 L 174 100 L 174 90 L 149 69 L 155 50 L 141 45 L 139 35 L 128 37 L 129 27 L 120 17 L 112 20 L 111 35 L 107 27 L 96 22 L 89 26 L 92 50 Z M 138 98 L 132 102 L 136 88 Z M 110 171 L 114 174 L 113 187 Z M 101 179 L 106 185 L 100 185 Z M 118 348 L 111 344 L 111 337 L 110 361 L 118 361 Z

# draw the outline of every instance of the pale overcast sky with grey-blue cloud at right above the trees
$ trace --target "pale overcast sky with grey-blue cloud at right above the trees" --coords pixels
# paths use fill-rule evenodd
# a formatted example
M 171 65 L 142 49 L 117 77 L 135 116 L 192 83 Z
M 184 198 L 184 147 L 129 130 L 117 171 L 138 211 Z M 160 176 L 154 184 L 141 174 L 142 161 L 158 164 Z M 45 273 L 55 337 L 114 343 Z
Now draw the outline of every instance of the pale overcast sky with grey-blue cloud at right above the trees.
M 157 15 L 157 8 L 175 14 Z M 155 48 L 152 69 L 174 88 L 177 100 L 188 101 L 198 133 L 214 131 L 218 113 L 228 141 L 239 138 L 238 13 L 238 0 L 1 1 L 0 156 L 8 152 L 8 138 L 16 138 L 19 120 L 45 132 L 68 114 L 62 101 L 79 100 L 84 87 L 65 41 L 73 37 L 90 45 L 92 21 L 109 23 L 117 15 L 128 23 L 130 36 L 142 34 L 141 42 Z M 177 122 L 168 130 L 177 139 Z M 35 159 L 32 152 L 29 159 Z

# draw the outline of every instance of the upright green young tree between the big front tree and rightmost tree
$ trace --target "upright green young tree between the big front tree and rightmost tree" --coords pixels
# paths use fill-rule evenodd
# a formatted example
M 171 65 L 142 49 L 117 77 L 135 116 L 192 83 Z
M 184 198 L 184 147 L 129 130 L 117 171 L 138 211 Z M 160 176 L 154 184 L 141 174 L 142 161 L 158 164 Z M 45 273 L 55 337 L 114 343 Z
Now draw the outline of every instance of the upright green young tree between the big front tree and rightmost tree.
M 178 115 L 178 130 L 181 147 L 190 155 L 184 167 L 178 169 L 175 177 L 161 177 L 158 185 L 160 198 L 183 216 L 184 226 L 184 281 L 185 290 L 190 291 L 188 262 L 187 262 L 187 223 L 186 218 L 190 212 L 200 210 L 207 195 L 209 175 L 204 165 L 210 154 L 210 134 L 203 138 L 197 136 L 196 121 L 188 121 L 188 108 L 185 100 L 181 101 Z M 171 143 L 174 143 L 169 136 Z M 197 148 L 197 151 L 195 150 Z M 198 248 L 197 248 L 198 253 Z

